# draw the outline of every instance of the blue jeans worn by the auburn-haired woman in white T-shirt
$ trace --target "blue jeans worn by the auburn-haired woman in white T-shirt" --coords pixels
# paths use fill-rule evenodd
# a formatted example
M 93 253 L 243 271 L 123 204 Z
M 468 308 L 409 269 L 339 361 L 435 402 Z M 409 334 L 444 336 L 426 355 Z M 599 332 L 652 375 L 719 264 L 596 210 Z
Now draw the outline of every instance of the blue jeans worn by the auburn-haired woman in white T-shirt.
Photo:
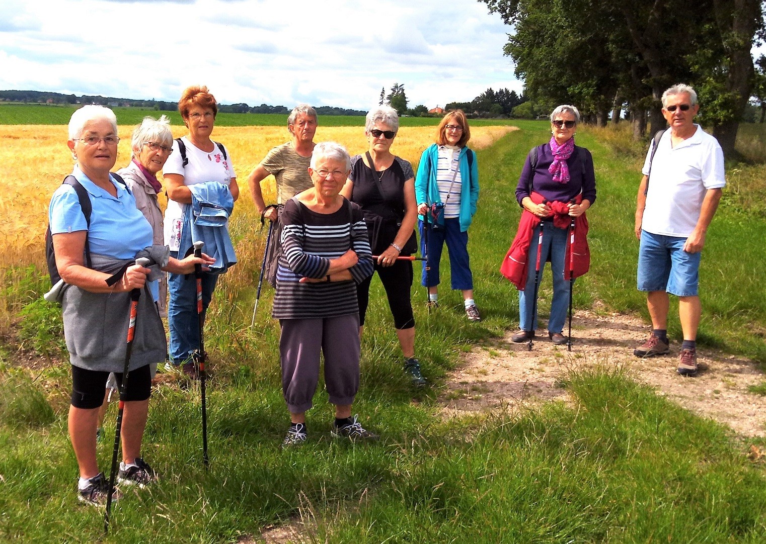
M 177 257 L 178 252 L 170 252 Z M 218 274 L 202 272 L 202 314 L 208 311 Z M 197 315 L 197 280 L 191 274 L 168 274 L 169 352 L 173 364 L 187 362 L 199 347 L 199 318 Z

